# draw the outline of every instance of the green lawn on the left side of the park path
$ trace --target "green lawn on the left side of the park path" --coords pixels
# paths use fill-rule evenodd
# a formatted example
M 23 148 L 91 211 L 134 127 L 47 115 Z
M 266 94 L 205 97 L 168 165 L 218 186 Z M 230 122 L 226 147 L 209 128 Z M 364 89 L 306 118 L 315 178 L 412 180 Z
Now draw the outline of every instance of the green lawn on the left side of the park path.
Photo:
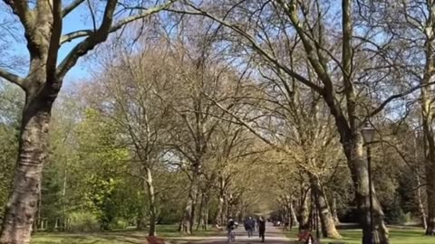
M 157 227 L 159 237 L 163 239 L 174 239 L 183 236 L 178 231 L 176 225 L 159 225 Z M 207 237 L 218 235 L 214 230 L 198 230 L 195 231 L 194 237 Z M 108 232 L 92 232 L 92 233 L 36 233 L 32 237 L 32 244 L 131 244 L 144 243 L 147 236 L 147 231 L 137 230 L 119 230 Z

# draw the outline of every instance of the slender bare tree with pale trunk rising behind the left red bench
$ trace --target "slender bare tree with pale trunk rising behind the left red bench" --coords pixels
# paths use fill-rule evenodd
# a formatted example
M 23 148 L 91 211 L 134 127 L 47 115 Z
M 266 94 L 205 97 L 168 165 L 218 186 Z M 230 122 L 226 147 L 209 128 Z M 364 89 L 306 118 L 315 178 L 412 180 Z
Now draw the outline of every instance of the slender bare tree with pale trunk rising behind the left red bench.
M 140 179 L 146 192 L 149 235 L 154 236 L 158 189 L 153 174 L 167 156 L 165 145 L 172 128 L 169 117 L 174 116 L 160 98 L 170 96 L 167 95 L 169 80 L 173 77 L 162 69 L 169 62 L 163 48 L 151 50 L 143 45 L 142 49 L 135 56 L 123 54 L 128 53 L 128 49 L 121 45 L 108 50 L 107 54 L 112 58 L 102 64 L 106 71 L 96 74 L 99 81 L 95 83 L 95 93 L 90 99 L 94 99 L 92 103 L 102 111 L 103 120 L 116 130 L 123 138 L 122 144 L 133 153 L 130 174 Z

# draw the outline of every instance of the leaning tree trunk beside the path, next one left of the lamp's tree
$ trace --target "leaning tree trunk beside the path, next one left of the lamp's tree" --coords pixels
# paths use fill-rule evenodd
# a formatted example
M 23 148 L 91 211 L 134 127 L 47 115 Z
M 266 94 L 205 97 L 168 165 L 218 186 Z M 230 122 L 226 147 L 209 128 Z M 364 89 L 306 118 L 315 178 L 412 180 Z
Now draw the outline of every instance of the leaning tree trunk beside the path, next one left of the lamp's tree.
M 318 210 L 320 222 L 322 225 L 322 235 L 324 238 L 339 239 L 342 238 L 338 231 L 335 229 L 333 215 L 329 210 L 328 201 L 324 194 L 324 189 L 320 180 L 315 175 L 310 175 L 311 188 L 314 191 L 314 202 Z

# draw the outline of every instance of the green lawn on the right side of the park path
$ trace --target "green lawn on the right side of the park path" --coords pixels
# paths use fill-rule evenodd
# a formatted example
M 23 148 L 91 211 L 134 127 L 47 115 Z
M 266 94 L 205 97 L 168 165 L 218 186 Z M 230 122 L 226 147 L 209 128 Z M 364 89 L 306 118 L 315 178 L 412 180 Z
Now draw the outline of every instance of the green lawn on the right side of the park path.
M 424 236 L 424 231 L 417 228 L 397 229 L 390 228 L 391 244 L 435 244 L 435 237 Z M 361 244 L 361 230 L 339 230 L 343 239 L 321 239 L 322 244 Z M 287 231 L 285 235 L 295 240 L 296 231 Z

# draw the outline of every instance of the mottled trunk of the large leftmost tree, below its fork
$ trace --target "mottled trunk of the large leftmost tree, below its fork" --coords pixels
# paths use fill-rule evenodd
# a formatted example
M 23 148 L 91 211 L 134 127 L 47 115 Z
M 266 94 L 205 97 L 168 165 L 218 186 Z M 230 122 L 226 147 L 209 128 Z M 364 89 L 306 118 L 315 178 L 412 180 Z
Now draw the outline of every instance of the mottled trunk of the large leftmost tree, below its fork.
M 13 192 L 6 205 L 0 243 L 30 243 L 57 93 L 58 89 L 45 86 L 37 96 L 26 94 Z

